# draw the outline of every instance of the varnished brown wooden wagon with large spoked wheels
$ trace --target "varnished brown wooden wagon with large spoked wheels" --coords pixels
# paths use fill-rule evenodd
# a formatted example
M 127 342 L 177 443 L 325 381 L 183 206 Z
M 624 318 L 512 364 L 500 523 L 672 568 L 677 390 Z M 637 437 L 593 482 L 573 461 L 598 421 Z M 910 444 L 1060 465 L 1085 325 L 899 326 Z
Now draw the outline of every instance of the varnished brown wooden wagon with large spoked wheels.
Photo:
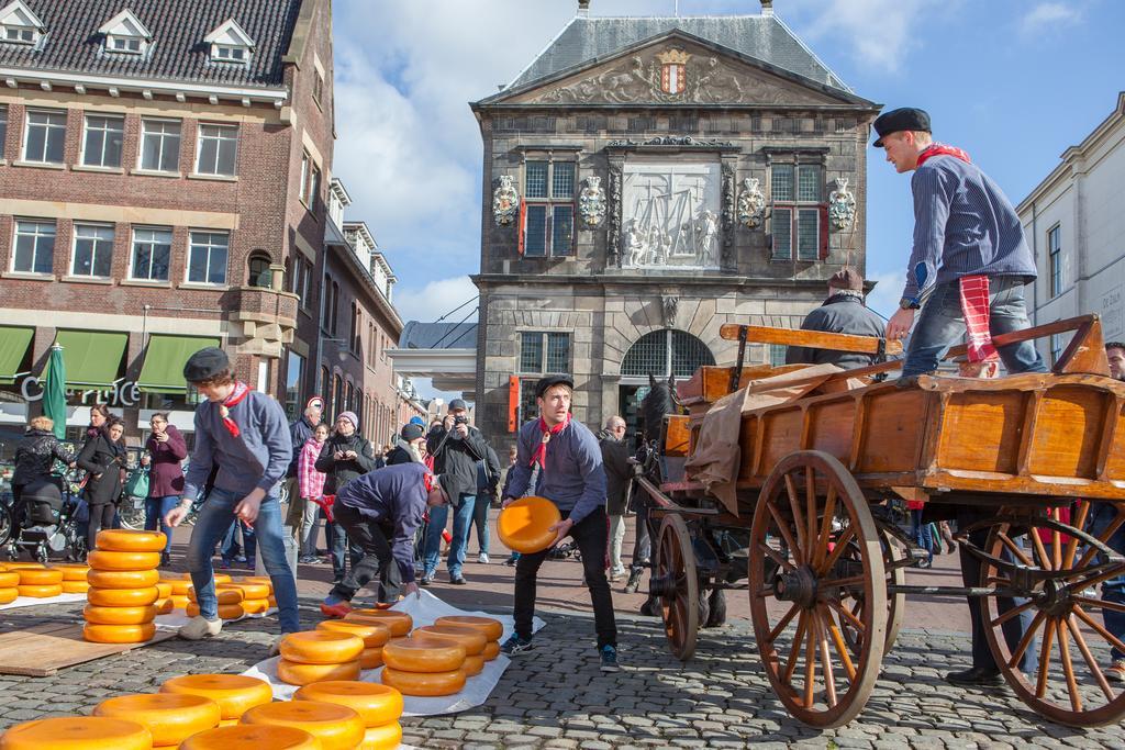
M 735 385 L 800 367 L 744 368 L 746 342 L 882 347 L 853 336 L 723 328 L 742 342 L 739 364 L 702 368 L 680 387 L 688 414 L 666 418 L 662 466 L 693 453 L 703 414 Z M 969 596 L 1004 677 L 1028 706 L 1078 726 L 1117 721 L 1125 685 L 1105 670 L 1110 648 L 1125 651 L 1125 643 L 1104 615 L 1125 613 L 1125 604 L 1101 599 L 1098 589 L 1125 576 L 1120 550 L 1106 544 L 1125 523 L 1125 382 L 1108 377 L 1094 316 L 996 341 L 1069 331 L 1070 346 L 1047 374 L 924 376 L 899 388 L 878 381 L 899 367 L 885 362 L 744 413 L 737 507 L 724 507 L 690 472 L 640 476 L 656 533 L 650 593 L 673 652 L 684 660 L 694 652 L 709 591 L 747 589 L 777 697 L 808 724 L 837 726 L 871 695 L 907 594 Z M 847 389 L 846 377 L 868 385 Z M 888 514 L 894 498 L 984 509 L 958 532 L 981 561 L 976 586 L 906 584 L 919 551 Z M 1030 621 L 1026 634 L 1006 639 L 1020 618 Z M 1037 667 L 1020 663 L 1033 657 Z

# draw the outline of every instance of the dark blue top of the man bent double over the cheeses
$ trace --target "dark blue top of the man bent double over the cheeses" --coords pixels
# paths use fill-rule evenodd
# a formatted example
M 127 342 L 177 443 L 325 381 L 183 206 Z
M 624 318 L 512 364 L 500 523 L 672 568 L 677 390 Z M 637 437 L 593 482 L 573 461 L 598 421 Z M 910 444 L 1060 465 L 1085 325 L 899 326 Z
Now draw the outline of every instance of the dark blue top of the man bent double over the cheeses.
M 340 505 L 394 526 L 390 553 L 406 584 L 414 580 L 414 533 L 425 513 L 428 472 L 423 463 L 396 463 L 360 475 L 336 493 Z

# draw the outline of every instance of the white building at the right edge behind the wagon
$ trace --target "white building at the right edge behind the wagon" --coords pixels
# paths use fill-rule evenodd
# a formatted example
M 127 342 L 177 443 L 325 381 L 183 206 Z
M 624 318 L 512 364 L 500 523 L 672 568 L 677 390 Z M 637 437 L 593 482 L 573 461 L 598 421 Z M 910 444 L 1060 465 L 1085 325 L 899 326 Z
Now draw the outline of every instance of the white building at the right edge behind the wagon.
M 1019 204 L 1040 278 L 1036 325 L 1097 313 L 1107 341 L 1125 340 L 1125 91 L 1117 107 Z M 1053 362 L 1068 335 L 1038 345 Z

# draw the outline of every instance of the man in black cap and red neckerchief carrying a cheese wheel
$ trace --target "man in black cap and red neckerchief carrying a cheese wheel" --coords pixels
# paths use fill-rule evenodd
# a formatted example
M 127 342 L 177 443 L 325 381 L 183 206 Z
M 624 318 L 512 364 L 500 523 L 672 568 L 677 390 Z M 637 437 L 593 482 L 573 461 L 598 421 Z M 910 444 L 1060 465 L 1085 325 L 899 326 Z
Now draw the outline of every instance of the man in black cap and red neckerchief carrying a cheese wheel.
M 562 519 L 550 528 L 556 533 L 551 546 L 570 536 L 582 552 L 601 668 L 618 671 L 618 627 L 604 567 L 609 542 L 605 467 L 594 433 L 570 418 L 573 392 L 574 381 L 568 376 L 547 376 L 536 386 L 539 418 L 520 427 L 504 506 L 524 495 L 539 495 L 558 506 Z M 531 648 L 536 581 L 548 551 L 523 554 L 515 563 L 515 631 L 501 647 L 508 656 Z

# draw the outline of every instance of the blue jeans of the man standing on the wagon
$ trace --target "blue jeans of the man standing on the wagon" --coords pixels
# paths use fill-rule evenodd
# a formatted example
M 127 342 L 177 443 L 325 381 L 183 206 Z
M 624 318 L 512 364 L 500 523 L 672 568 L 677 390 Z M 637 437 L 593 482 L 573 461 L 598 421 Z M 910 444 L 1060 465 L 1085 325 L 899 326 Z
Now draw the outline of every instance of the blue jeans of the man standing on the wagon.
M 989 279 L 989 329 L 993 336 L 1030 327 L 1027 306 L 1024 304 L 1024 280 L 1001 275 Z M 918 324 L 910 334 L 902 377 L 933 372 L 950 347 L 965 335 L 965 317 L 961 311 L 961 286 L 946 281 L 934 287 L 918 316 Z M 997 350 L 1009 373 L 1046 372 L 1035 344 L 999 346 Z M 975 584 L 974 584 L 975 585 Z

